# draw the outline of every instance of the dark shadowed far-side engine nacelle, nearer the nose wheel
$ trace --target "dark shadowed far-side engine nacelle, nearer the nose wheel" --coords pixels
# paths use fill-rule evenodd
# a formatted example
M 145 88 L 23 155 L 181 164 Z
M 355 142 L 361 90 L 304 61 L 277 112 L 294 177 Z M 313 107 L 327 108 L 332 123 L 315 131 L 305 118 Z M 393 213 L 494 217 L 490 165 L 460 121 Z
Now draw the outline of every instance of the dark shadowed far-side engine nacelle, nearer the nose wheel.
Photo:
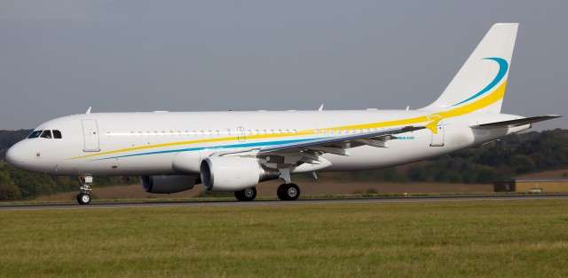
M 197 175 L 142 176 L 141 179 L 144 190 L 154 194 L 171 194 L 189 190 L 200 181 Z

